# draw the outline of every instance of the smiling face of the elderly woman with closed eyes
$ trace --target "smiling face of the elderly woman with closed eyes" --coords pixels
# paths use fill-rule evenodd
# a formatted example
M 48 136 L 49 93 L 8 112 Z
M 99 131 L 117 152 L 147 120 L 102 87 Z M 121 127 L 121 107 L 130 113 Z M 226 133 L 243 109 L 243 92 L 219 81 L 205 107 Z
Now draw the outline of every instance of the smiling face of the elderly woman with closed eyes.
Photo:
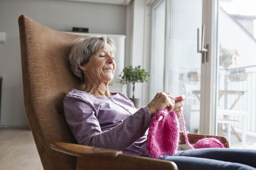
M 89 62 L 85 64 L 85 69 L 86 78 L 100 83 L 111 81 L 116 69 L 111 46 L 107 44 L 92 55 Z

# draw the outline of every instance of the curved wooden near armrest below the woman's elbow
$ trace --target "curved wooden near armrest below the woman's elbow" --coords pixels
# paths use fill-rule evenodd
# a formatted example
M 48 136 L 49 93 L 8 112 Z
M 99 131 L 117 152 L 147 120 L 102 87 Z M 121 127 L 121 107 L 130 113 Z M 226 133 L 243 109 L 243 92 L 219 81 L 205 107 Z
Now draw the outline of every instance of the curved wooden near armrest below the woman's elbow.
M 68 155 L 73 155 L 76 157 L 109 157 L 115 158 L 122 151 L 119 150 L 109 150 L 105 148 L 95 148 L 93 146 L 77 145 L 74 143 L 63 143 L 63 142 L 53 142 L 51 143 L 51 148 L 58 152 L 66 153 Z

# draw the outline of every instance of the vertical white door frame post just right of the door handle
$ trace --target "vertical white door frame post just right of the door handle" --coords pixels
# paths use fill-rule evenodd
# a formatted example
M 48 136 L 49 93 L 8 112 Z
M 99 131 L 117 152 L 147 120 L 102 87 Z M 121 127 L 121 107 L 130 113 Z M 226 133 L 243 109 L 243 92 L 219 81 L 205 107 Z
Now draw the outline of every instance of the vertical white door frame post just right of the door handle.
M 205 25 L 205 45 L 209 45 L 209 62 L 201 64 L 200 133 L 216 134 L 216 64 L 218 0 L 203 0 L 202 24 Z

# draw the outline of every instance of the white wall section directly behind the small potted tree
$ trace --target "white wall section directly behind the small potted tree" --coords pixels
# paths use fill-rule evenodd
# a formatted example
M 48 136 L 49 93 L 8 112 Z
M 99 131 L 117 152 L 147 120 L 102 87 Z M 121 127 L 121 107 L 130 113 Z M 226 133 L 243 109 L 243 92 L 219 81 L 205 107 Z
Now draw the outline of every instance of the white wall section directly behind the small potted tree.
M 147 0 L 134 0 L 127 6 L 127 38 L 125 66 L 141 66 L 150 71 L 150 11 Z M 148 79 L 149 80 L 149 79 Z M 135 83 L 135 98 L 140 106 L 149 102 L 149 82 Z M 132 97 L 132 85 L 127 88 Z

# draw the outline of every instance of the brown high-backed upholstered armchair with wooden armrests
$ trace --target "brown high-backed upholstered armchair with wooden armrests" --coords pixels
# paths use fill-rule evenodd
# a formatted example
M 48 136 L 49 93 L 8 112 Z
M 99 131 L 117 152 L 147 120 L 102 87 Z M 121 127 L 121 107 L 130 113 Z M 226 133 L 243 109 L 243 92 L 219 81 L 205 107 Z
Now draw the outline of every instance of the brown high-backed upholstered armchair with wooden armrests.
M 25 15 L 19 17 L 19 31 L 24 104 L 44 169 L 177 169 L 166 160 L 77 145 L 63 117 L 63 98 L 71 89 L 83 89 L 67 59 L 74 39 L 81 36 L 54 31 Z M 189 134 L 189 141 L 203 137 Z M 228 147 L 226 138 L 214 138 Z

